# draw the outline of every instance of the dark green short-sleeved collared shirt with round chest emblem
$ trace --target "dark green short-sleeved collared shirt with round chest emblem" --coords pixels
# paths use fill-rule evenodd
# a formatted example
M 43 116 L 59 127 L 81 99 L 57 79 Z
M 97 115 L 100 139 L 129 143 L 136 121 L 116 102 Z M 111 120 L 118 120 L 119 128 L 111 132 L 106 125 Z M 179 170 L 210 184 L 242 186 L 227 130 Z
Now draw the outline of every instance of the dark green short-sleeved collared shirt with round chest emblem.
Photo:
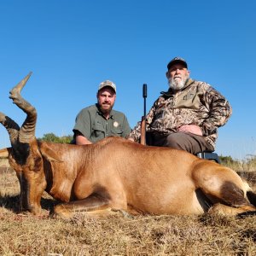
M 124 113 L 112 109 L 106 119 L 95 104 L 79 112 L 73 127 L 73 132 L 76 131 L 82 133 L 91 143 L 96 143 L 104 137 L 126 137 L 131 132 L 131 127 Z

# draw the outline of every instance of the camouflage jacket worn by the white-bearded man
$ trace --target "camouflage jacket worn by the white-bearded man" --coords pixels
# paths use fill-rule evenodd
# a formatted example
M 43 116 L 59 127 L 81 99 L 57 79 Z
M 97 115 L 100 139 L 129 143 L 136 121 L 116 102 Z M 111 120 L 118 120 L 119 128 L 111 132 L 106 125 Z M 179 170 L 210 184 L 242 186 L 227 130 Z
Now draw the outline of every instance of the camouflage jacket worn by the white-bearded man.
M 217 128 L 230 118 L 230 103 L 210 84 L 189 79 L 183 90 L 161 92 L 146 117 L 146 131 L 163 135 L 177 132 L 182 125 L 198 125 L 202 136 L 215 148 Z M 129 134 L 136 142 L 141 137 L 141 122 Z

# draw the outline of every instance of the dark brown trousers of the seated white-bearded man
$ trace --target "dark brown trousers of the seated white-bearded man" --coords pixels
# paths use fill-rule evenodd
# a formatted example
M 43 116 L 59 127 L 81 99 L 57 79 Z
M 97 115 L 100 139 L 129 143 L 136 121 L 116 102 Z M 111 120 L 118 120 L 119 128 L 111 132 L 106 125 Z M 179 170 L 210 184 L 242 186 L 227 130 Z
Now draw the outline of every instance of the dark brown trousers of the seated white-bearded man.
M 175 132 L 169 135 L 147 133 L 147 144 L 182 149 L 191 154 L 214 150 L 203 137 L 190 132 Z

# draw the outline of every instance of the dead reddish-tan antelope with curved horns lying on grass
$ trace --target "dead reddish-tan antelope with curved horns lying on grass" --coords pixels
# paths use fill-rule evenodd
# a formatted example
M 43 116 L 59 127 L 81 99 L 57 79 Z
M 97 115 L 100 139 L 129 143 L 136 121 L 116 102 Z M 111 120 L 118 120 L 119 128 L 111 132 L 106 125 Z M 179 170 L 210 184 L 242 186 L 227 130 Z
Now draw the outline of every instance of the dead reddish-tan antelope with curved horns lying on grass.
M 85 146 L 39 142 L 37 111 L 20 96 L 29 77 L 10 91 L 26 113 L 23 125 L 0 113 L 11 143 L 9 164 L 20 181 L 21 210 L 40 214 L 44 190 L 61 201 L 54 212 L 62 217 L 75 212 L 189 215 L 210 209 L 235 215 L 256 210 L 256 195 L 236 172 L 182 150 L 120 137 Z

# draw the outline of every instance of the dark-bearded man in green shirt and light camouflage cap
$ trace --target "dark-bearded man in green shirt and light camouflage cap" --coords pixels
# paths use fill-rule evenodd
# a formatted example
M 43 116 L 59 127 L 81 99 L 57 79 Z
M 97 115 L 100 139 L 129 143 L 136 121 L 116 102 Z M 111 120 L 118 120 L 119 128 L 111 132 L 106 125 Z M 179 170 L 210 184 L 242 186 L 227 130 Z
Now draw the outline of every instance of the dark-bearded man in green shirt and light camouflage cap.
M 131 127 L 124 113 L 113 110 L 116 85 L 103 81 L 96 94 L 97 103 L 83 108 L 76 117 L 73 143 L 77 145 L 96 143 L 104 137 L 126 137 Z

